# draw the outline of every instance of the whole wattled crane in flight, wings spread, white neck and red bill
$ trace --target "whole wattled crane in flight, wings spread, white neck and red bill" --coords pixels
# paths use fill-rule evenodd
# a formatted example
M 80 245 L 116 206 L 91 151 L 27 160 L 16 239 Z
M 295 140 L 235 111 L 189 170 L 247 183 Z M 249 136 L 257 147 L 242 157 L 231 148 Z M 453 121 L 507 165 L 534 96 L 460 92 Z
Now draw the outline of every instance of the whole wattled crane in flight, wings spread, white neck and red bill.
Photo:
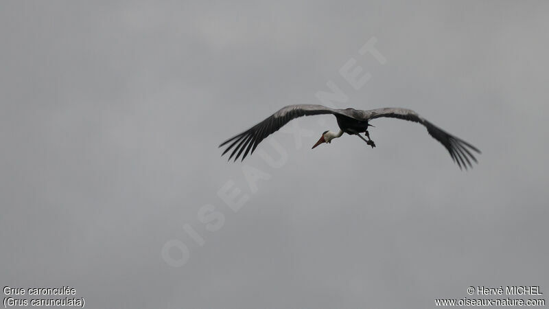
M 256 124 L 239 135 L 224 141 L 219 147 L 227 144 L 229 144 L 229 146 L 227 146 L 224 150 L 222 156 L 234 148 L 231 156 L 229 157 L 229 161 L 231 158 L 235 157 L 235 155 L 236 161 L 240 155 L 242 155 L 242 152 L 244 152 L 244 155 L 242 155 L 242 160 L 244 160 L 244 158 L 248 155 L 248 152 L 250 155 L 253 154 L 253 151 L 263 139 L 279 130 L 279 128 L 282 128 L 282 126 L 290 122 L 290 120 L 302 116 L 323 114 L 331 114 L 336 116 L 340 130 L 339 132 L 332 132 L 330 130 L 323 132 L 322 135 L 320 135 L 320 139 L 318 139 L 312 149 L 323 143 L 330 144 L 332 139 L 341 137 L 343 133 L 356 135 L 364 140 L 366 144 L 374 148 L 375 143 L 370 138 L 370 133 L 368 132 L 368 127 L 372 126 L 369 122 L 376 118 L 390 117 L 423 124 L 423 126 L 427 128 L 427 132 L 434 137 L 434 139 L 441 142 L 441 144 L 443 144 L 443 146 L 448 150 L 450 156 L 454 162 L 458 164 L 459 168 L 472 168 L 471 160 L 477 162 L 472 152 L 477 152 L 480 154 L 480 150 L 478 150 L 475 146 L 467 143 L 467 141 L 464 141 L 463 139 L 459 139 L 458 137 L 445 132 L 445 130 L 435 126 L 431 122 L 428 122 L 426 119 L 423 119 L 423 117 L 410 109 L 390 107 L 362 111 L 355 108 L 336 109 L 323 105 L 297 104 L 288 105 L 281 108 L 264 121 L 259 122 L 259 124 Z M 360 133 L 364 133 L 364 136 L 367 139 L 362 137 Z

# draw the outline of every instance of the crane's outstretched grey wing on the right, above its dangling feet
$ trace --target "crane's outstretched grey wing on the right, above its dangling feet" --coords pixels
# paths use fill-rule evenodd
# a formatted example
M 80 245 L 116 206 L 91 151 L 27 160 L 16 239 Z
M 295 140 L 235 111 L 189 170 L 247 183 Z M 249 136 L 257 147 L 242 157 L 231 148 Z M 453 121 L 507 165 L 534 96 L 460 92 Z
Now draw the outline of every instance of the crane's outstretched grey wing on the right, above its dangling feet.
M 343 111 L 348 111 L 347 113 L 349 113 L 349 116 L 355 119 L 369 120 L 379 117 L 390 117 L 404 119 L 410 122 L 419 122 L 420 124 L 423 124 L 425 128 L 427 128 L 427 132 L 432 137 L 434 137 L 434 139 L 440 141 L 441 144 L 443 144 L 443 146 L 450 153 L 450 156 L 452 156 L 452 159 L 454 159 L 454 161 L 458 163 L 460 168 L 462 168 L 462 166 L 465 169 L 467 169 L 467 167 L 472 168 L 471 160 L 477 162 L 475 156 L 471 152 L 474 151 L 480 153 L 480 150 L 478 150 L 475 146 L 467 143 L 467 141 L 464 141 L 463 139 L 459 139 L 458 137 L 447 133 L 445 130 L 428 122 L 427 120 L 423 119 L 423 117 L 410 109 L 378 108 L 371 111 L 357 111 L 354 109 L 352 111 Z

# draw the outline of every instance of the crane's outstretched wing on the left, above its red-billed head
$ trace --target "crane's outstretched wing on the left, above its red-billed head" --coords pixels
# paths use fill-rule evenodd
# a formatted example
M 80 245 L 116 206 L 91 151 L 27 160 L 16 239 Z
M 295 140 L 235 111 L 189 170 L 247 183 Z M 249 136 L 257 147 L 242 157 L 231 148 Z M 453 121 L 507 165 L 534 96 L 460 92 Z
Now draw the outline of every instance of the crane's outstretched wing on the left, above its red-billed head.
M 244 152 L 244 155 L 242 156 L 242 160 L 248 155 L 248 152 L 250 150 L 253 151 L 257 147 L 257 145 L 265 138 L 271 135 L 272 133 L 279 130 L 279 128 L 282 128 L 285 124 L 288 124 L 290 120 L 302 117 L 302 116 L 309 116 L 309 115 L 320 115 L 320 114 L 334 114 L 336 111 L 332 108 L 322 106 L 322 105 L 314 105 L 314 104 L 298 104 L 298 105 L 288 105 L 283 108 L 281 108 L 276 113 L 272 114 L 270 117 L 265 119 L 262 122 L 259 122 L 259 124 L 256 124 L 255 126 L 249 128 L 248 130 L 240 133 L 239 135 L 236 135 L 235 137 L 231 137 L 230 139 L 227 139 L 224 141 L 220 147 L 225 146 L 226 144 L 229 144 L 229 146 L 224 150 L 222 155 L 225 155 L 226 152 L 229 152 L 232 148 L 234 148 L 233 152 L 231 153 L 231 156 L 229 157 L 229 160 L 235 155 L 235 161 L 242 155 L 242 152 L 244 149 L 246 151 Z M 237 153 L 238 151 L 238 153 Z M 250 153 L 250 155 L 251 155 Z

